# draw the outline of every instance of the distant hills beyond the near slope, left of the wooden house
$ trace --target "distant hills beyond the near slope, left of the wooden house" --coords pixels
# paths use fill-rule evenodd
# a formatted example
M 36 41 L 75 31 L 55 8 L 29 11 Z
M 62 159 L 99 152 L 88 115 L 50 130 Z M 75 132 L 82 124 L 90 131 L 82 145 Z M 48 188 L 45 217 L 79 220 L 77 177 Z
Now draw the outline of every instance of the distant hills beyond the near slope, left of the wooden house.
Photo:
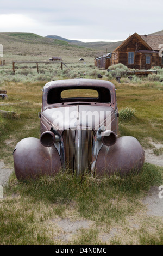
M 119 42 L 100 42 L 100 41 L 99 42 L 82 42 L 82 41 L 78 41 L 78 40 L 70 40 L 70 39 L 62 38 L 57 35 L 47 35 L 46 38 L 58 39 L 58 40 L 69 42 L 70 44 L 73 44 L 73 45 L 78 45 L 78 46 L 91 48 L 91 49 L 102 50 L 104 52 L 106 51 L 106 48 L 107 48 L 108 52 L 112 52 L 115 48 L 117 48 L 123 42 L 123 41 L 119 41 Z

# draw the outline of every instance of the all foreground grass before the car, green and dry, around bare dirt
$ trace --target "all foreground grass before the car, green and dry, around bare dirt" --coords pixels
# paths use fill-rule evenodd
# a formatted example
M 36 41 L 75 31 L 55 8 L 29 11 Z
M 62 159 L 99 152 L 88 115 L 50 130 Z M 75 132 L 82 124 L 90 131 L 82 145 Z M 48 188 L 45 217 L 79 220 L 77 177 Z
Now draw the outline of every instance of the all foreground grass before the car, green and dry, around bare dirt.
M 139 198 L 149 187 L 160 184 L 160 171 L 162 168 L 146 164 L 139 174 L 101 180 L 89 175 L 79 180 L 70 173 L 60 172 L 55 178 L 44 176 L 23 182 L 12 175 L 5 187 L 7 198 L 0 202 L 0 241 L 4 245 L 55 244 L 43 224 L 56 216 L 65 218 L 67 211 L 72 210 L 74 216 L 91 220 L 96 227 L 122 225 L 126 217 L 142 208 Z M 71 204 L 75 208 L 71 209 Z M 97 228 L 80 230 L 71 244 L 98 245 L 99 233 Z M 148 239 L 142 242 L 142 231 L 139 235 L 140 243 L 148 243 Z

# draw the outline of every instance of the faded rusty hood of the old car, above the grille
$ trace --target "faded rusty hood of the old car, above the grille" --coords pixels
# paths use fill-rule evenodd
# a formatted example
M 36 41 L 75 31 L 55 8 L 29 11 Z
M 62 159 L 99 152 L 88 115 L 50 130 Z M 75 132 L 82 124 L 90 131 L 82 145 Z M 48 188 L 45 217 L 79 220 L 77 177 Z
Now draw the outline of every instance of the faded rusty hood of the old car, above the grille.
M 41 113 L 41 117 L 52 125 L 54 130 L 87 127 L 97 131 L 102 125 L 111 130 L 115 112 L 110 106 L 75 105 L 46 109 Z

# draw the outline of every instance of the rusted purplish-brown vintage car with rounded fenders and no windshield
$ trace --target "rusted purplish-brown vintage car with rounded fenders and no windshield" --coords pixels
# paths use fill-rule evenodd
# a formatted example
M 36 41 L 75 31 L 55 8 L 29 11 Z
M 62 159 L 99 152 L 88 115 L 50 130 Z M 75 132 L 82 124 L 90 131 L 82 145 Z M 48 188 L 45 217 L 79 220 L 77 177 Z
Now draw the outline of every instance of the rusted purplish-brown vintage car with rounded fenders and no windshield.
M 43 87 L 41 136 L 24 138 L 14 149 L 18 179 L 57 175 L 80 177 L 140 171 L 145 154 L 136 138 L 118 137 L 114 84 L 104 80 L 51 81 Z

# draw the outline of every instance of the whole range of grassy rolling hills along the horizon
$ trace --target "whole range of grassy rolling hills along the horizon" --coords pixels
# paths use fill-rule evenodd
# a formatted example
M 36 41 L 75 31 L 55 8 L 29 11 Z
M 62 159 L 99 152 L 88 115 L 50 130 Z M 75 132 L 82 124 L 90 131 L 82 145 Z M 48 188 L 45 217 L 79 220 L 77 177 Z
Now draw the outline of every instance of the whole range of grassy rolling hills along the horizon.
M 150 35 L 163 35 L 163 30 Z M 34 33 L 0 32 L 0 44 L 3 45 L 5 60 L 48 60 L 52 56 L 61 57 L 66 62 L 79 58 L 95 58 L 112 52 L 119 42 L 82 42 L 57 35 L 40 36 Z M 26 56 L 26 57 L 24 57 Z

